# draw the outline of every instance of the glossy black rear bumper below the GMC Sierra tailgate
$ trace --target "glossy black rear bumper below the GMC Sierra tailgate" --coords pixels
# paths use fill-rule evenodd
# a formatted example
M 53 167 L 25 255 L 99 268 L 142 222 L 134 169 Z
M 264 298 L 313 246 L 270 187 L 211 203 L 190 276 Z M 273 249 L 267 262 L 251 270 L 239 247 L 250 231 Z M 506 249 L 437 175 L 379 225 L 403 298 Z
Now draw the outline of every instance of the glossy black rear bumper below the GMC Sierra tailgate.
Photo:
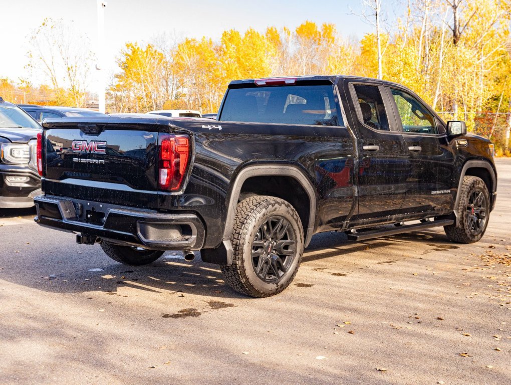
M 204 225 L 195 214 L 166 214 L 48 195 L 35 197 L 34 203 L 37 223 L 85 237 L 153 250 L 200 250 L 204 242 Z

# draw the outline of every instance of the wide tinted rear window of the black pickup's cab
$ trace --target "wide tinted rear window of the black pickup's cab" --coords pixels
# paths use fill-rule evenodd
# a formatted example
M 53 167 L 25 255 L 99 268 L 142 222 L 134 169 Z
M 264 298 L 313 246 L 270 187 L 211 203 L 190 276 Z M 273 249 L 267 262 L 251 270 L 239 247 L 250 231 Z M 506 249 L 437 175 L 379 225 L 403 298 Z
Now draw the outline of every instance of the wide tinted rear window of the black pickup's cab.
M 343 126 L 331 85 L 232 88 L 220 119 L 230 122 Z

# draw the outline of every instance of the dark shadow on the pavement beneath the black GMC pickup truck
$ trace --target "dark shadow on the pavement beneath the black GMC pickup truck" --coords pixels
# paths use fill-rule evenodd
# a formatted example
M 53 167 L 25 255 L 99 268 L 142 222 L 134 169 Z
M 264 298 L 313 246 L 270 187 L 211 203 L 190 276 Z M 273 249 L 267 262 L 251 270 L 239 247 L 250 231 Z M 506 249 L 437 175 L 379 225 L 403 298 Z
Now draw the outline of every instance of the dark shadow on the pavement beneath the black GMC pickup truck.
M 366 252 L 365 263 L 367 258 L 370 259 L 368 263 L 381 263 L 382 258 L 388 259 L 388 255 L 382 257 L 382 253 L 378 253 L 382 247 L 389 247 L 389 253 L 392 248 L 392 254 L 397 256 L 396 250 L 403 242 L 419 243 L 418 248 L 421 250 L 436 250 L 434 249 L 436 246 L 452 245 L 440 232 L 415 232 L 364 242 L 347 241 L 345 234 L 324 233 L 313 238 L 304 253 L 303 263 L 339 257 L 335 265 L 340 267 L 342 256 L 355 252 Z M 417 248 L 417 245 L 414 247 Z M 84 252 L 76 250 L 84 250 Z M 372 251 L 376 253 L 371 254 Z M 85 251 L 78 245 L 70 247 L 70 245 L 60 244 L 56 246 L 54 254 L 65 255 L 67 258 L 62 258 L 62 261 L 57 262 L 58 264 L 49 264 L 48 260 L 44 259 L 33 261 L 32 273 L 18 270 L 11 279 L 16 283 L 40 290 L 61 293 L 98 291 L 112 296 L 127 297 L 134 295 L 131 290 L 130 292 L 125 290 L 130 288 L 177 297 L 196 295 L 214 298 L 247 298 L 235 292 L 224 282 L 219 266 L 202 262 L 199 255 L 193 262 L 187 262 L 180 253 L 167 252 L 150 265 L 128 266 L 111 261 L 103 255 L 98 245 Z M 76 258 L 78 254 L 80 259 Z M 399 255 L 399 259 L 406 258 L 415 258 L 415 256 Z M 40 277 L 35 280 L 33 276 L 30 277 L 34 274 L 33 271 L 40 274 Z M 32 282 L 27 283 L 27 281 Z

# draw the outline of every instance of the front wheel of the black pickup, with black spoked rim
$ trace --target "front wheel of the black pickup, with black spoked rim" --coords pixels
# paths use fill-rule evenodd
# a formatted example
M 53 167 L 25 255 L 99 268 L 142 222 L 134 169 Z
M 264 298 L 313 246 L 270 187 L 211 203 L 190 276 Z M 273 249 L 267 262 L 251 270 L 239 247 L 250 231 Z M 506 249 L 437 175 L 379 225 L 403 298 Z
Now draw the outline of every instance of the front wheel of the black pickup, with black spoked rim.
M 484 235 L 490 219 L 490 193 L 481 178 L 464 176 L 459 194 L 458 205 L 454 208 L 459 223 L 444 226 L 444 230 L 453 242 L 477 242 Z

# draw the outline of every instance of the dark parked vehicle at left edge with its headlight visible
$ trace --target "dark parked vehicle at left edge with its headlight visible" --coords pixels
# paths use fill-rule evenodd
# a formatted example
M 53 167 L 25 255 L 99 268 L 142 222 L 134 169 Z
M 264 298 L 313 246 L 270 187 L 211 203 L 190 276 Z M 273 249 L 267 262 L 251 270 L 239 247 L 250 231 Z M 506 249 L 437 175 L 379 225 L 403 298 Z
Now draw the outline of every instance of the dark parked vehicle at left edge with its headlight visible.
M 37 133 L 41 126 L 24 110 L 0 98 L 0 208 L 34 206 L 41 194 Z

